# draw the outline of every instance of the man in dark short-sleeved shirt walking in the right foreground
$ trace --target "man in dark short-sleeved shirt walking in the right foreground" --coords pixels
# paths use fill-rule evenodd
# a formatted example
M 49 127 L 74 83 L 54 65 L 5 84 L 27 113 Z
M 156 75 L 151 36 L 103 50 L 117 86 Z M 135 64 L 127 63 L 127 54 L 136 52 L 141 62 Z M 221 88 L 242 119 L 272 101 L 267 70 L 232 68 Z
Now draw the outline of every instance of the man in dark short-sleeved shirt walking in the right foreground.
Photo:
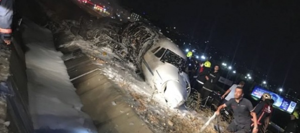
M 252 103 L 243 98 L 243 88 L 237 87 L 235 91 L 235 98 L 230 99 L 225 104 L 219 106 L 216 110 L 216 114 L 220 114 L 220 110 L 230 106 L 234 111 L 234 120 L 229 124 L 227 130 L 230 132 L 249 132 L 251 128 L 251 116 L 253 117 L 254 127 L 253 132 L 258 132 L 257 126 L 257 117 L 256 113 L 254 112 Z

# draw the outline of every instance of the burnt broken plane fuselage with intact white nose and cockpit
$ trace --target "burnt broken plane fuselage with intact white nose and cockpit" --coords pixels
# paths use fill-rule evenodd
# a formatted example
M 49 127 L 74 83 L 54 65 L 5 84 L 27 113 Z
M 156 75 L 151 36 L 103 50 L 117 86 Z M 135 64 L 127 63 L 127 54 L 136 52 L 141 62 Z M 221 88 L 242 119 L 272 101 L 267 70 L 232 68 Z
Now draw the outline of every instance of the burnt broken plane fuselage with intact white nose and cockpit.
M 187 58 L 175 43 L 154 26 L 142 22 L 119 28 L 91 22 L 90 26 L 81 26 L 77 34 L 91 41 L 97 39 L 97 46 L 109 46 L 120 58 L 133 62 L 142 71 L 145 82 L 164 95 L 168 106 L 183 105 L 191 87 Z

